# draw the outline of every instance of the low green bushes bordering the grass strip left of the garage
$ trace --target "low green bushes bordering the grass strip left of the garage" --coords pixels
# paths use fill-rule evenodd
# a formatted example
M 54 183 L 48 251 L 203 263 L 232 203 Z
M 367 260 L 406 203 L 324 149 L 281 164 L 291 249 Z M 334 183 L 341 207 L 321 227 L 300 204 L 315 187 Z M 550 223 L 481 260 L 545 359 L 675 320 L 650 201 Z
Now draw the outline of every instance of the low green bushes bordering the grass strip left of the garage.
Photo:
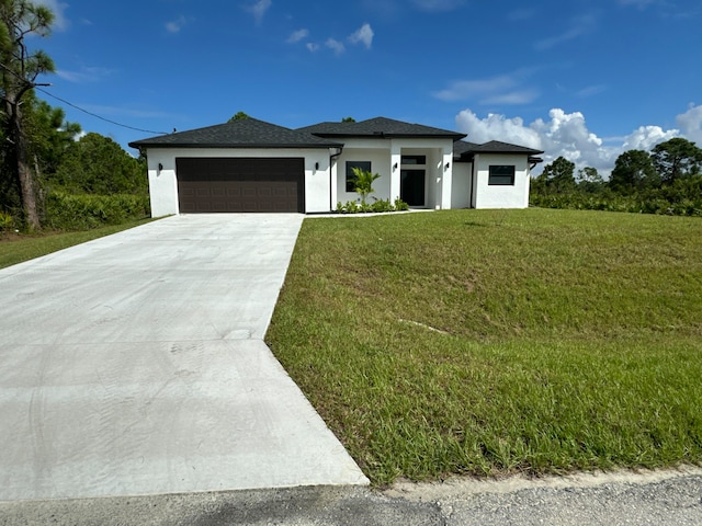
M 50 192 L 44 225 L 56 230 L 89 230 L 150 215 L 148 195 L 90 195 Z

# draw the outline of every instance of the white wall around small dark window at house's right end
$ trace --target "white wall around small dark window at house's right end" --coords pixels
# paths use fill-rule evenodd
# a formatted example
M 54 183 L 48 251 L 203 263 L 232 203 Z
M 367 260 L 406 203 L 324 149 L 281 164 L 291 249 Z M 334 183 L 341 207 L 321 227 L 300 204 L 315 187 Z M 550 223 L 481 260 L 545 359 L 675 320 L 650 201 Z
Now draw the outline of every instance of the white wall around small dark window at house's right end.
M 475 208 L 526 208 L 529 206 L 528 156 L 480 153 L 475 156 L 474 162 Z M 514 165 L 514 185 L 488 185 L 491 164 Z

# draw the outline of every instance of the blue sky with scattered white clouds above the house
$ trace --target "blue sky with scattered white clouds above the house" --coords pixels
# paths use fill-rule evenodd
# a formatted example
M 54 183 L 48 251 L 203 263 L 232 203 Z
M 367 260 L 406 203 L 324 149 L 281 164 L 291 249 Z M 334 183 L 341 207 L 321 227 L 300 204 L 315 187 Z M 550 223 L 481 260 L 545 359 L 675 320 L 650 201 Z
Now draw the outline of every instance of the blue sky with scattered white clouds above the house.
M 41 2 L 46 91 L 146 130 L 386 116 L 604 175 L 627 149 L 702 145 L 699 0 Z M 125 148 L 157 135 L 39 96 Z

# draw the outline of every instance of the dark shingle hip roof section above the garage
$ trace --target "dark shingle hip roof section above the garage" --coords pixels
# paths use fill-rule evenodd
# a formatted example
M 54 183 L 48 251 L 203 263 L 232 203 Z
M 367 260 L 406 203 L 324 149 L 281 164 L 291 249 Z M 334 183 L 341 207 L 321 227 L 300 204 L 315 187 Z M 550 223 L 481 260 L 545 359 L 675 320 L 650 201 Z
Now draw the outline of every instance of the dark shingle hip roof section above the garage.
M 129 142 L 132 148 L 333 148 L 339 142 L 256 118 L 233 121 Z

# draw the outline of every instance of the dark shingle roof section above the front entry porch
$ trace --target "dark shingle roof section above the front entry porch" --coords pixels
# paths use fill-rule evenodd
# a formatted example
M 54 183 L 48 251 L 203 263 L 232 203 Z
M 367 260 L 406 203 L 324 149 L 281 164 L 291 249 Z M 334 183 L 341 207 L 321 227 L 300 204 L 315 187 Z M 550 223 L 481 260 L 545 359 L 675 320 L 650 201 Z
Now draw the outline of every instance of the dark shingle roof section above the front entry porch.
M 421 124 L 404 123 L 386 117 L 369 118 L 360 123 L 319 123 L 298 128 L 319 137 L 421 137 L 462 139 L 465 134 L 432 128 Z

